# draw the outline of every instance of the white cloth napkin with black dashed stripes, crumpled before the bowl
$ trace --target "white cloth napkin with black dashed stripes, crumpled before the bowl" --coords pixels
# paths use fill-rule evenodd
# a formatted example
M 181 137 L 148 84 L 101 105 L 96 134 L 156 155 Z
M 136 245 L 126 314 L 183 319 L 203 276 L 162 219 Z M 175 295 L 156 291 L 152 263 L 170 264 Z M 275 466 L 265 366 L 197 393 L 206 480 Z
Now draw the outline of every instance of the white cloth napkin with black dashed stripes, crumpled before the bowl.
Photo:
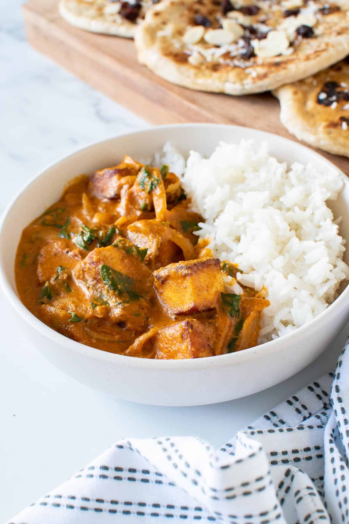
M 196 437 L 120 440 L 10 522 L 349 522 L 348 376 L 347 344 L 335 374 L 218 452 Z

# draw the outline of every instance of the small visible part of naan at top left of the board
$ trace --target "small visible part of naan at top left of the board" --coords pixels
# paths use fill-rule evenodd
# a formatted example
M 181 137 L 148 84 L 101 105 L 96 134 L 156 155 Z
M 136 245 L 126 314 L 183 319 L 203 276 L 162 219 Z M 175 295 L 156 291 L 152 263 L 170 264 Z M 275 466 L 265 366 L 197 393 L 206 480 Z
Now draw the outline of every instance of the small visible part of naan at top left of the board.
M 152 6 L 151 0 L 129 3 L 120 0 L 61 0 L 62 17 L 73 26 L 105 35 L 133 38 L 137 24 Z

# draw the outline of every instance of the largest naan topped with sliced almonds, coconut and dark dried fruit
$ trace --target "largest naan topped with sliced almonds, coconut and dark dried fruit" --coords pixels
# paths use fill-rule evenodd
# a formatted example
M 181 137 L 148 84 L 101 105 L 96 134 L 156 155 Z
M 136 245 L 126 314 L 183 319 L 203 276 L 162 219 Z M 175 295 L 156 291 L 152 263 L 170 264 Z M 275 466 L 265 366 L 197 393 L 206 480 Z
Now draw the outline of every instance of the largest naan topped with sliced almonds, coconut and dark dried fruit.
M 138 59 L 191 89 L 267 91 L 348 54 L 348 9 L 349 0 L 165 0 L 137 28 Z

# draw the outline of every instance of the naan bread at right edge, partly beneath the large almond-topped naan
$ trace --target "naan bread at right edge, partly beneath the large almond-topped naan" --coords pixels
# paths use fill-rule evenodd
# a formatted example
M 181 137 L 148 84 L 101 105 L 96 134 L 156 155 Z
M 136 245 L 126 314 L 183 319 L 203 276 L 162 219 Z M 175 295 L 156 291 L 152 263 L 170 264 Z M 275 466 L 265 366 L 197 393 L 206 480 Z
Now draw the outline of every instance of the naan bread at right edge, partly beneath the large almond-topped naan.
M 299 140 L 349 157 L 349 57 L 274 91 L 280 120 Z

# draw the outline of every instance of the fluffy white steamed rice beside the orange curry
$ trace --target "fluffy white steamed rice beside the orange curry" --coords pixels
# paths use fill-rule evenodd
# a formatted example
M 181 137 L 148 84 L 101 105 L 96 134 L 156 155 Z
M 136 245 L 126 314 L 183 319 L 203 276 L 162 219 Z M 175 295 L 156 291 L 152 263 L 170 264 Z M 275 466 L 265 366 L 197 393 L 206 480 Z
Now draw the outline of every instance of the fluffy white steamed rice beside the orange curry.
M 238 264 L 244 285 L 266 288 L 259 343 L 294 331 L 336 298 L 349 278 L 340 219 L 326 205 L 343 187 L 337 172 L 288 167 L 252 140 L 221 143 L 208 159 L 190 151 L 187 161 L 166 144 L 155 161 L 181 176 L 213 255 Z

